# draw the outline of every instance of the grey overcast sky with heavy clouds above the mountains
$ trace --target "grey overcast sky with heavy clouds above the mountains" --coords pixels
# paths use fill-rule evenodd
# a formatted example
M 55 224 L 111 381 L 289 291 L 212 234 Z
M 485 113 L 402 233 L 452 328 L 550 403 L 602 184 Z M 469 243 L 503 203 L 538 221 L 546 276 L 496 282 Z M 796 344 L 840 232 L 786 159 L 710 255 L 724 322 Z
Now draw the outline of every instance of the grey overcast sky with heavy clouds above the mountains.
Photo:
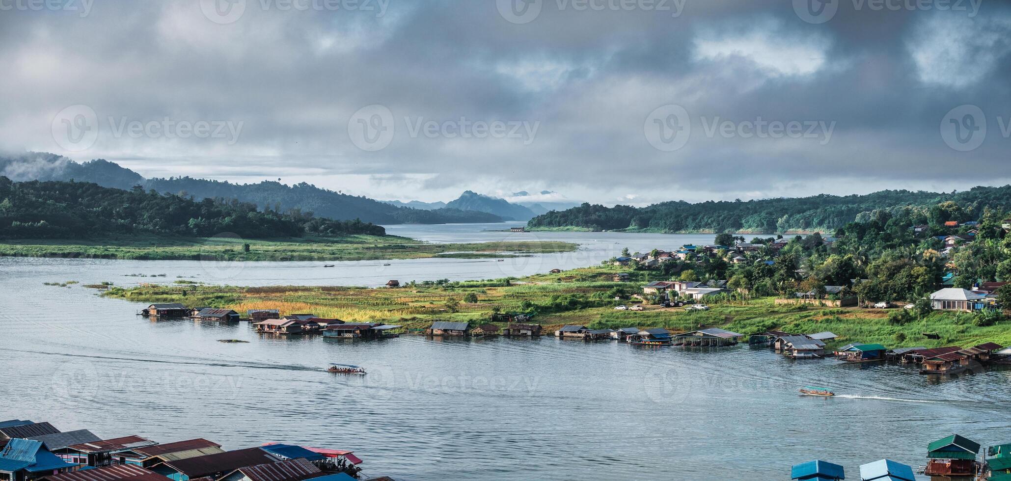
M 425 201 L 1009 182 L 1006 3 L 807 1 L 0 0 L 0 149 Z

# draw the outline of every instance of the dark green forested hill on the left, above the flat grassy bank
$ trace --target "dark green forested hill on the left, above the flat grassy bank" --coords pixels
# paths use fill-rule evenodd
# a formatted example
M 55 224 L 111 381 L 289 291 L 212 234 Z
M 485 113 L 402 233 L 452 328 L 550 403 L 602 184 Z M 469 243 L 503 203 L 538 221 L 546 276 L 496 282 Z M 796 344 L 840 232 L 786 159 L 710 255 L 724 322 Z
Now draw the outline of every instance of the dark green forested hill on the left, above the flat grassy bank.
M 173 194 L 86 182 L 12 182 L 0 177 L 0 238 L 87 238 L 123 234 L 247 238 L 383 235 L 379 225 L 338 221 L 293 210 L 258 210 L 237 200 L 195 201 Z

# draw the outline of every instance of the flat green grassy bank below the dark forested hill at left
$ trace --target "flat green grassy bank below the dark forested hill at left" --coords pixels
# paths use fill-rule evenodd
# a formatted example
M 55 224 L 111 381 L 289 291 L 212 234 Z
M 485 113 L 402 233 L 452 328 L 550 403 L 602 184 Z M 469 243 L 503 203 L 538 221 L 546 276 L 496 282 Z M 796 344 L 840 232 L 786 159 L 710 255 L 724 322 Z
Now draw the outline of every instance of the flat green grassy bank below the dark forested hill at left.
M 510 258 L 576 249 L 577 245 L 562 242 L 427 244 L 395 235 L 271 239 L 139 235 L 86 240 L 10 239 L 0 244 L 0 256 L 142 261 L 373 261 L 437 257 Z

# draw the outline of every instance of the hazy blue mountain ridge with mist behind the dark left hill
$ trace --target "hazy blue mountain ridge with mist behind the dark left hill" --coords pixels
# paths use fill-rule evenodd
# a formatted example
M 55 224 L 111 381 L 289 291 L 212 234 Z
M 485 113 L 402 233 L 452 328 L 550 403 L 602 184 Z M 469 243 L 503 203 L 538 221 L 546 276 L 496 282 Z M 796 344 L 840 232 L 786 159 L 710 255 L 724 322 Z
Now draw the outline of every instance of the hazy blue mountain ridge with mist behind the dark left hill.
M 487 211 L 444 207 L 413 209 L 363 196 L 353 196 L 301 183 L 293 186 L 264 181 L 259 184 L 233 184 L 229 182 L 176 177 L 145 179 L 140 174 L 117 164 L 99 159 L 78 164 L 53 154 L 28 153 L 0 156 L 0 176 L 13 181 L 70 181 L 93 182 L 103 187 L 130 189 L 141 185 L 146 189 L 173 194 L 185 193 L 195 199 L 224 198 L 256 204 L 266 210 L 296 209 L 335 220 L 361 219 L 376 224 L 401 223 L 478 223 L 500 222 L 503 219 Z M 531 215 L 532 216 L 532 215 Z M 529 217 L 528 217 L 529 218 Z

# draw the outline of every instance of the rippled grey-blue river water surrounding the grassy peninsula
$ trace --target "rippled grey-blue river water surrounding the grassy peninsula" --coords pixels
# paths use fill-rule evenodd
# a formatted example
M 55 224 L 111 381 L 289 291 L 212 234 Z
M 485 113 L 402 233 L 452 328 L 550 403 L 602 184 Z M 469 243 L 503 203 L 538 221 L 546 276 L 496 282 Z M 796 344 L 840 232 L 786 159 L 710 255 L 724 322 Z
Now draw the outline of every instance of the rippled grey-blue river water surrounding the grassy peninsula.
M 0 258 L 0 420 L 49 420 L 100 437 L 203 437 L 353 449 L 394 479 L 780 480 L 820 458 L 850 476 L 888 457 L 923 465 L 959 432 L 1011 442 L 1008 371 L 944 381 L 899 366 L 794 362 L 767 350 L 640 349 L 614 342 L 377 342 L 260 336 L 246 323 L 151 321 L 143 306 L 43 282 L 378 285 L 480 279 L 596 264 L 706 235 L 488 231 L 508 224 L 391 226 L 434 242 L 571 239 L 578 253 L 495 263 L 132 262 Z M 130 277 L 130 274 L 165 277 Z M 249 344 L 221 344 L 238 339 Z M 366 366 L 364 377 L 323 372 Z M 799 395 L 828 385 L 836 398 Z M 926 478 L 921 478 L 926 479 Z

